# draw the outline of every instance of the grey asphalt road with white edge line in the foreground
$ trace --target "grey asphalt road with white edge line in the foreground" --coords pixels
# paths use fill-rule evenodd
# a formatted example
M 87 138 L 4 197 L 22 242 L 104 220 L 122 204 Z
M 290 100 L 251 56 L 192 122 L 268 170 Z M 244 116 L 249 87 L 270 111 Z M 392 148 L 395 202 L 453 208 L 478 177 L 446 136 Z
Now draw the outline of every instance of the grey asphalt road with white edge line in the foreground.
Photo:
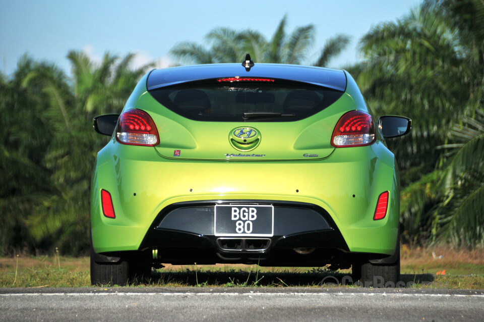
M 484 319 L 484 290 L 0 289 L 0 320 L 450 321 Z

